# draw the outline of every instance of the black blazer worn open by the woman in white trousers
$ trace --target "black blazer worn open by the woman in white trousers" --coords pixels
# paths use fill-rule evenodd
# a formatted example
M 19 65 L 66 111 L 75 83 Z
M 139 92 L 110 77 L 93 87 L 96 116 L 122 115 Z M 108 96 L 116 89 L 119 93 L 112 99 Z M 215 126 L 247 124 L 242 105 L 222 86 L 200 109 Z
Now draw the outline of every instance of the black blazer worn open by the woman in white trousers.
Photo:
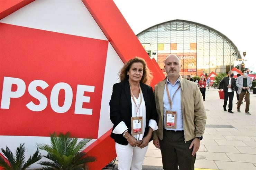
M 146 129 L 144 137 L 148 133 L 148 123 L 150 119 L 154 119 L 157 122 L 156 104 L 152 87 L 140 83 L 140 88 L 143 93 L 145 105 L 146 105 Z M 128 80 L 124 80 L 120 83 L 113 85 L 113 92 L 109 102 L 110 106 L 110 120 L 114 124 L 113 129 L 121 122 L 124 121 L 128 132 L 131 133 L 131 94 L 130 85 Z M 122 134 L 113 133 L 113 129 L 110 137 L 115 142 L 127 145 L 128 141 L 123 137 Z

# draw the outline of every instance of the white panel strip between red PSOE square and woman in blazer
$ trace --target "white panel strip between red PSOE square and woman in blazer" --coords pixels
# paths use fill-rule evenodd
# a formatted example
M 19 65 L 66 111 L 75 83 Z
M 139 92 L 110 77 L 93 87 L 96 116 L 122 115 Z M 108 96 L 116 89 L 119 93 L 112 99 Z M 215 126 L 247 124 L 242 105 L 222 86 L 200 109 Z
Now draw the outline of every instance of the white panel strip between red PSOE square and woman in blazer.
M 124 66 L 124 63 L 109 43 L 102 90 L 98 138 L 113 127 L 109 117 L 109 101 L 111 99 L 113 84 L 119 82 L 118 72 L 122 66 Z

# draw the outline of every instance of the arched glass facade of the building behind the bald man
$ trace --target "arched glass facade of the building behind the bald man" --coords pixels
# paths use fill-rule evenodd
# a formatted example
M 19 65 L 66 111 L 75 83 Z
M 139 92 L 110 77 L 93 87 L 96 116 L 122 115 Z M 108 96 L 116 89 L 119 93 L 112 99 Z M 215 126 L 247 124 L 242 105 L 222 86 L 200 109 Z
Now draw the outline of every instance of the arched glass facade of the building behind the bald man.
M 168 21 L 140 32 L 137 37 L 163 71 L 165 57 L 170 53 L 179 56 L 181 75 L 226 72 L 240 58 L 232 55 L 238 49 L 226 36 L 195 22 Z

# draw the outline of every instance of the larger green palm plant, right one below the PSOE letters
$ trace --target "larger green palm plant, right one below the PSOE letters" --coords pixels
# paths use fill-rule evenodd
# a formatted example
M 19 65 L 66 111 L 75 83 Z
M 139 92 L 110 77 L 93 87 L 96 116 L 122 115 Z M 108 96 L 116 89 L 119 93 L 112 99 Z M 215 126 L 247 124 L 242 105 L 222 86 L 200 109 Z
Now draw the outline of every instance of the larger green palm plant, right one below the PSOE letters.
M 51 161 L 40 162 L 40 165 L 46 166 L 42 169 L 47 170 L 82 170 L 87 162 L 95 161 L 94 157 L 85 157 L 82 152 L 86 143 L 91 139 L 83 139 L 77 143 L 78 138 L 70 138 L 70 133 L 60 133 L 58 137 L 55 133 L 51 134 L 51 144 L 36 144 L 38 149 L 47 151 L 43 156 Z

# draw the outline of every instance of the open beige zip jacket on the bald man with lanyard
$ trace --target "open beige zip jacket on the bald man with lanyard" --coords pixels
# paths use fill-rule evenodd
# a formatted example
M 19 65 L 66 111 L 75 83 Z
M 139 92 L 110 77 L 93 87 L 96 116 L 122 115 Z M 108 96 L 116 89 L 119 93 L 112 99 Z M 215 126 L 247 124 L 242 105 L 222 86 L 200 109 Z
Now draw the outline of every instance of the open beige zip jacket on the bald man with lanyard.
M 204 134 L 206 113 L 202 100 L 202 94 L 198 85 L 192 81 L 183 79 L 180 76 L 181 84 L 181 110 L 183 115 L 183 129 L 185 142 Z M 160 81 L 154 90 L 156 110 L 158 114 L 158 130 L 153 132 L 153 139 L 157 137 L 163 140 L 164 120 L 164 88 L 166 78 Z

